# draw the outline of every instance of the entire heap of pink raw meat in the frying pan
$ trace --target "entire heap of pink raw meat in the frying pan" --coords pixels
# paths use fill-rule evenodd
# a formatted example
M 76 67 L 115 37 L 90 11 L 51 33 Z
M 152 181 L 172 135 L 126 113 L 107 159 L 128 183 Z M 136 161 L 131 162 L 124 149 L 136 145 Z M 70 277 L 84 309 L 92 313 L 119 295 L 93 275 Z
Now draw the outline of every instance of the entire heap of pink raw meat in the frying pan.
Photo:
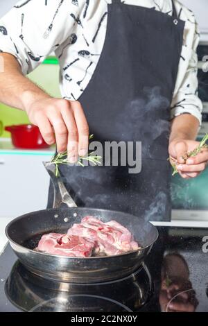
M 44 234 L 36 249 L 53 255 L 91 257 L 120 255 L 139 248 L 130 231 L 118 222 L 103 223 L 85 216 L 67 234 Z

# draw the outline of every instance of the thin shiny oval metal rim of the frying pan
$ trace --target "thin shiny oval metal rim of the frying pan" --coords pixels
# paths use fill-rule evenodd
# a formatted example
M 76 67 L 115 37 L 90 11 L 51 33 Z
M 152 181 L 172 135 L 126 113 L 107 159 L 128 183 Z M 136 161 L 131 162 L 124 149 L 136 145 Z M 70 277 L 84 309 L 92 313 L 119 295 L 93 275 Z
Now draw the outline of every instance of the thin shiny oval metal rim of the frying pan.
M 67 207 L 67 208 L 63 208 L 64 209 L 91 209 L 92 211 L 95 210 L 95 211 L 100 211 L 100 212 L 114 212 L 114 213 L 118 213 L 118 214 L 125 214 L 125 215 L 128 215 L 128 216 L 135 216 L 136 218 L 139 218 L 139 220 L 143 221 L 144 223 L 147 223 L 147 224 L 150 224 L 151 227 L 155 230 L 155 239 L 148 244 L 148 246 L 144 246 L 144 247 L 141 247 L 137 250 L 132 250 L 132 251 L 129 251 L 129 252 L 124 252 L 123 254 L 118 254 L 118 255 L 110 255 L 110 256 L 94 256 L 94 257 L 69 257 L 69 256 L 63 256 L 63 255 L 52 255 L 52 254 L 49 254 L 49 253 L 46 253 L 46 252 L 39 252 L 39 251 L 35 251 L 34 249 L 30 249 L 30 248 L 26 248 L 24 246 L 21 246 L 19 243 L 13 241 L 10 236 L 8 235 L 8 228 L 10 228 L 10 225 L 12 225 L 13 222 L 15 221 L 18 221 L 19 219 L 21 218 L 24 218 L 24 216 L 28 216 L 28 214 L 33 214 L 33 213 L 41 213 L 41 212 L 50 212 L 51 210 L 56 210 L 57 208 L 47 208 L 47 209 L 40 209 L 39 211 L 34 211 L 34 212 L 29 212 L 29 213 L 26 213 L 26 214 L 23 214 L 21 216 L 17 216 L 16 218 L 14 218 L 12 221 L 10 221 L 10 223 L 8 223 L 8 225 L 6 225 L 6 229 L 5 229 L 5 234 L 6 234 L 6 237 L 8 238 L 8 241 L 10 241 L 11 243 L 13 243 L 15 246 L 18 246 L 24 250 L 28 250 L 28 252 L 33 252 L 33 254 L 37 254 L 37 255 L 46 255 L 46 256 L 50 256 L 50 257 L 57 257 L 57 258 L 64 258 L 64 259 L 68 259 L 68 260 L 71 260 L 71 259 L 81 259 L 81 260 L 84 260 L 84 259 L 107 259 L 107 258 L 112 258 L 112 257 L 123 257 L 125 255 L 130 255 L 132 254 L 133 252 L 139 252 L 141 250 L 144 250 L 146 248 L 149 248 L 150 246 L 153 246 L 153 244 L 157 241 L 158 237 L 159 237 L 159 232 L 157 230 L 157 228 L 155 227 L 155 225 L 153 225 L 153 223 L 151 223 L 150 221 L 146 221 L 144 222 L 142 220 L 141 217 L 139 216 L 135 216 L 135 215 L 132 215 L 132 214 L 129 214 L 129 213 L 125 213 L 125 212 L 119 212 L 119 211 L 116 211 L 116 210 L 112 210 L 112 209 L 99 209 L 99 208 L 93 208 L 93 207 Z M 58 209 L 62 209 L 62 208 L 58 208 Z

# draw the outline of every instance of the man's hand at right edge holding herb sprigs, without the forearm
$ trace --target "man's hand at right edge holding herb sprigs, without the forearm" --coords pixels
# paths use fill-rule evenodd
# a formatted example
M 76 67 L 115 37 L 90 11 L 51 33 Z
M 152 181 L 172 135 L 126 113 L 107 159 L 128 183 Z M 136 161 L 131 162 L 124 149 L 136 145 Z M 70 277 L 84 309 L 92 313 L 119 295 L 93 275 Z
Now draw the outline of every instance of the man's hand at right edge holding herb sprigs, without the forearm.
M 198 155 L 189 157 L 186 162 L 184 155 L 198 147 L 198 141 L 189 139 L 173 139 L 169 144 L 169 155 L 177 160 L 176 169 L 184 179 L 196 178 L 204 171 L 208 163 L 208 149 L 204 148 Z

